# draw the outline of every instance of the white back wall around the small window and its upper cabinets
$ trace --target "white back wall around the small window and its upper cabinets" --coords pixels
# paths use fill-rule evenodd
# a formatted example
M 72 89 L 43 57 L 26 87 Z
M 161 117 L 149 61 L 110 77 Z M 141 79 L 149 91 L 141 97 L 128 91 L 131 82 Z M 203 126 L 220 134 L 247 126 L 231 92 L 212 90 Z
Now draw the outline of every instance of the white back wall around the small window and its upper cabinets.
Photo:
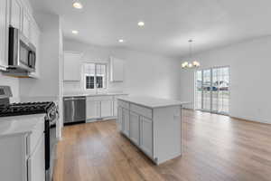
M 180 99 L 181 62 L 178 60 L 121 48 L 91 46 L 70 40 L 64 41 L 64 51 L 83 52 L 83 62 L 108 62 L 109 56 L 125 60 L 125 81 L 110 82 L 108 84 L 110 91 Z M 79 91 L 83 90 L 82 87 L 81 82 L 64 82 L 64 91 Z

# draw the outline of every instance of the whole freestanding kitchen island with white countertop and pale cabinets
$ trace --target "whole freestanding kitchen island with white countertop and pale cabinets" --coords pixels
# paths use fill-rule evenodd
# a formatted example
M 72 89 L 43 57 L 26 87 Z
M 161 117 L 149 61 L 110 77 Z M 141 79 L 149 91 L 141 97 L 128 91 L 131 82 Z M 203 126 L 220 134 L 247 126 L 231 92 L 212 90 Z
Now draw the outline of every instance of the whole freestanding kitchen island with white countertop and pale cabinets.
M 117 101 L 117 128 L 155 164 L 182 154 L 182 103 L 149 97 Z

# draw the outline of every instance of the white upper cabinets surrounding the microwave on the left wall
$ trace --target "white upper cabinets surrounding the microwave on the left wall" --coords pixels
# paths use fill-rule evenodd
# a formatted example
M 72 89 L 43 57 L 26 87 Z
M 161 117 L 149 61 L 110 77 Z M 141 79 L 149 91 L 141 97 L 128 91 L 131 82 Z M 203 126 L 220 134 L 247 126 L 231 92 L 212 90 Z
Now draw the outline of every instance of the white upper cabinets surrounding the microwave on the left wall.
M 31 77 L 39 75 L 40 61 L 40 29 L 36 24 L 31 7 L 25 0 L 1 0 L 0 1 L 0 70 L 8 66 L 8 28 L 13 26 L 23 32 L 36 48 L 36 71 Z

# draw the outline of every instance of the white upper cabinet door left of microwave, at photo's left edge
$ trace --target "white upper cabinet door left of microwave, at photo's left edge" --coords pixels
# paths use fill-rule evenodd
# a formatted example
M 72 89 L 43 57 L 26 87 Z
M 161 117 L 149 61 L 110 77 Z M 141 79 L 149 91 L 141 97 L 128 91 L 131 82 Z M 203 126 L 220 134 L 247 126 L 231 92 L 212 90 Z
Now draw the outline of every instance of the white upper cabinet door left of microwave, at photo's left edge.
M 8 65 L 8 21 L 9 0 L 0 1 L 0 70 L 5 70 Z

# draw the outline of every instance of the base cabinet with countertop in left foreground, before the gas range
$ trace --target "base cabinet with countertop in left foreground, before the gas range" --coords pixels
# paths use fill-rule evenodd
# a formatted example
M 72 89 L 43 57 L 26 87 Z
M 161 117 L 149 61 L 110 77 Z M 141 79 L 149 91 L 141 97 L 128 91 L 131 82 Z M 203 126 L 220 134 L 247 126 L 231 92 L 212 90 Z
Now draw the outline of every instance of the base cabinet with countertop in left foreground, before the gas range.
M 0 180 L 45 181 L 44 116 L 1 118 Z

